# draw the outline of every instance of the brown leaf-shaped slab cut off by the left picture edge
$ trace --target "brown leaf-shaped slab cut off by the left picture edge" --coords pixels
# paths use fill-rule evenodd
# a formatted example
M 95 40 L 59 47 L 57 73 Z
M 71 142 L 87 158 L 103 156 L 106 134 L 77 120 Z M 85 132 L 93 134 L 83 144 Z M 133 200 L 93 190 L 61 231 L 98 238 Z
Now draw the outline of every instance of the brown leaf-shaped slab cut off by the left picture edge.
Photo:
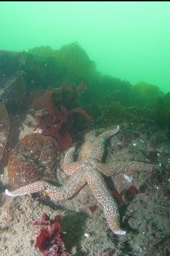
M 9 134 L 9 116 L 4 105 L 0 105 L 0 160 Z

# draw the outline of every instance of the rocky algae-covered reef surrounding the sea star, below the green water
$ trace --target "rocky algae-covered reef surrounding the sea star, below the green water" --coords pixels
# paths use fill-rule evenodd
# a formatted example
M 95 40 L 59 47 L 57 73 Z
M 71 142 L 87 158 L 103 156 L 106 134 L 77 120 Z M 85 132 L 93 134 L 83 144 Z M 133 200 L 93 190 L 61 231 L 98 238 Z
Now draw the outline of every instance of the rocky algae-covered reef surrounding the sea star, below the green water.
M 33 223 L 43 212 L 54 220 L 62 216 L 58 234 L 66 232 L 65 251 L 74 256 L 169 255 L 169 93 L 101 74 L 86 51 L 72 43 L 59 50 L 0 51 L 0 103 L 1 255 L 40 255 Z M 105 178 L 125 236 L 109 230 L 86 186 L 57 205 L 42 194 L 5 197 L 5 188 L 38 180 L 65 184 L 67 148 L 76 143 L 74 158 L 84 161 L 96 137 L 113 125 L 121 130 L 107 141 L 103 162 L 136 159 L 159 166 L 152 173 Z M 49 235 L 53 222 L 47 222 Z

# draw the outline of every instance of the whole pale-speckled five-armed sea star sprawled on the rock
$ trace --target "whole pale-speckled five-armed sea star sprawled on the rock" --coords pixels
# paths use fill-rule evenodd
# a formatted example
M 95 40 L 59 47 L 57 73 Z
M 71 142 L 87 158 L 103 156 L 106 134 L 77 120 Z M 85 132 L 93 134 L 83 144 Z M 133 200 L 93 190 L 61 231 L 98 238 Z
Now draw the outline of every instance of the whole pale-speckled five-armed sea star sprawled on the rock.
M 5 193 L 9 196 L 17 197 L 43 190 L 51 199 L 59 201 L 73 197 L 85 184 L 88 184 L 92 194 L 96 197 L 98 203 L 102 205 L 111 230 L 115 234 L 125 234 L 125 231 L 120 228 L 117 203 L 107 188 L 103 176 L 114 176 L 122 172 L 127 172 L 128 170 L 153 170 L 155 165 L 140 161 L 101 163 L 105 151 L 105 140 L 118 131 L 119 126 L 99 135 L 94 141 L 92 151 L 86 159 L 75 162 L 75 145 L 69 149 L 65 155 L 63 171 L 71 177 L 63 186 L 54 186 L 48 182 L 38 181 L 11 192 L 5 190 Z

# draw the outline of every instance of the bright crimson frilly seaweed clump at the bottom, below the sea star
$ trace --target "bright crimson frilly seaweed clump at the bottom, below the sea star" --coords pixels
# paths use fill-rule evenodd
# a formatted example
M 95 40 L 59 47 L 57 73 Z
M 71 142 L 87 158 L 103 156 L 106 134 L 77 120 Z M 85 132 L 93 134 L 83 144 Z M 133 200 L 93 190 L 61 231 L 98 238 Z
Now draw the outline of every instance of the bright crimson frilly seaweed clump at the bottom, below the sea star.
M 42 226 L 40 234 L 36 237 L 35 247 L 43 253 L 44 256 L 71 256 L 65 252 L 63 243 L 63 230 L 60 226 L 61 217 L 57 215 L 55 220 L 50 220 L 47 213 L 43 213 L 40 222 L 34 222 L 34 225 Z

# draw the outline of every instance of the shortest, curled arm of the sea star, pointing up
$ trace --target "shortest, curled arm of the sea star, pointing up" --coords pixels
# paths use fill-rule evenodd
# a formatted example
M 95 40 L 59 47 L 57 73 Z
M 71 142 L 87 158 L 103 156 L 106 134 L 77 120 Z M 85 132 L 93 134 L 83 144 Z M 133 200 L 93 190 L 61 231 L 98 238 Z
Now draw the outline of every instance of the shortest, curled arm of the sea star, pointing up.
M 74 162 L 74 152 L 76 149 L 76 145 L 73 145 L 71 149 L 67 151 L 65 154 L 64 162 L 63 162 L 63 171 L 65 174 L 73 175 L 80 170 L 80 164 L 78 162 Z

